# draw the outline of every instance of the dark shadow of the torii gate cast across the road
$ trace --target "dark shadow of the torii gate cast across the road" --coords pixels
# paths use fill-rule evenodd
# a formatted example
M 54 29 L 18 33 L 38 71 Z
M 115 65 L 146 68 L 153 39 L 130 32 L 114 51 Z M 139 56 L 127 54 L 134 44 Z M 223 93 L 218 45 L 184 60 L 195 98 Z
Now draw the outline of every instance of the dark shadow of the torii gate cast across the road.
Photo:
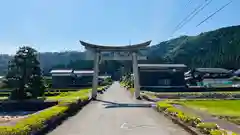
M 99 100 L 96 99 L 95 101 L 103 102 L 105 108 L 136 108 L 136 107 L 143 107 L 143 108 L 150 108 L 152 104 L 130 104 L 130 103 L 116 103 L 111 101 Z

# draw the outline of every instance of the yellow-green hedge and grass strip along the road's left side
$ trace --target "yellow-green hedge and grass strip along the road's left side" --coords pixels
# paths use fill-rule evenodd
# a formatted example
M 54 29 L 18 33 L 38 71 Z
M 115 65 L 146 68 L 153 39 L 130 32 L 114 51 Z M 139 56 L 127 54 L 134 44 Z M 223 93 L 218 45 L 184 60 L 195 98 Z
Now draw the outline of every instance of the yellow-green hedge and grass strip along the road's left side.
M 46 100 L 57 100 L 58 105 L 41 112 L 29 115 L 13 126 L 0 126 L 1 135 L 29 135 L 41 131 L 58 119 L 68 115 L 81 107 L 81 103 L 89 100 L 91 89 L 83 89 L 77 92 L 63 93 L 58 96 L 46 97 Z

